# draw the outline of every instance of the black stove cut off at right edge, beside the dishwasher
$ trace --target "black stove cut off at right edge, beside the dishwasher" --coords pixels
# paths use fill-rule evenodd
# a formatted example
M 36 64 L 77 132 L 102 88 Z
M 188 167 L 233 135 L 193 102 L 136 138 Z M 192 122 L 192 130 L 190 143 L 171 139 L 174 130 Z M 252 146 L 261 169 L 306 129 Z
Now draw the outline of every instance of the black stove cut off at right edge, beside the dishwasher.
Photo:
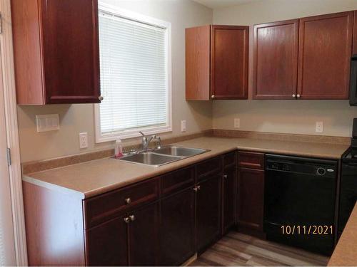
M 351 147 L 342 155 L 338 235 L 346 226 L 357 200 L 357 119 L 353 120 Z

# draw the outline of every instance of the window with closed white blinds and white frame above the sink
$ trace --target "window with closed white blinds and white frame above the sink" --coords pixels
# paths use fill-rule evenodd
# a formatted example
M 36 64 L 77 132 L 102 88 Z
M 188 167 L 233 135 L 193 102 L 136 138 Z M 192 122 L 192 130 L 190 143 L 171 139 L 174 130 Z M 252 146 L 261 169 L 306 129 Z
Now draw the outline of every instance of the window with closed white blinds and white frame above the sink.
M 172 130 L 170 45 L 171 23 L 99 5 L 96 142 Z

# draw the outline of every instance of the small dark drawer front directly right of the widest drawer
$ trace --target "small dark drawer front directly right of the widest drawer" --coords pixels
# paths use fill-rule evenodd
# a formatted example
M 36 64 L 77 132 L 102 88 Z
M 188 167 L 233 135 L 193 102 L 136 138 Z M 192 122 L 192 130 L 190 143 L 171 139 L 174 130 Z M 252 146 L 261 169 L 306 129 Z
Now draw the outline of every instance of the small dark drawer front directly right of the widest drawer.
M 188 167 L 179 169 L 169 174 L 164 174 L 160 177 L 161 192 L 163 195 L 178 192 L 181 189 L 190 187 L 195 183 L 195 168 Z

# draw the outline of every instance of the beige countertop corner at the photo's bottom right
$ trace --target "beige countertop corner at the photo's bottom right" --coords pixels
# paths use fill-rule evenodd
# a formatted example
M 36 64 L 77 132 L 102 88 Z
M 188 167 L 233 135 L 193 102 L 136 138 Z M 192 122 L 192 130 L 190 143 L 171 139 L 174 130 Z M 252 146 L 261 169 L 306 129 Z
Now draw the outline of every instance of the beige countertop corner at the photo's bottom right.
M 357 266 L 357 203 L 328 261 L 328 266 Z

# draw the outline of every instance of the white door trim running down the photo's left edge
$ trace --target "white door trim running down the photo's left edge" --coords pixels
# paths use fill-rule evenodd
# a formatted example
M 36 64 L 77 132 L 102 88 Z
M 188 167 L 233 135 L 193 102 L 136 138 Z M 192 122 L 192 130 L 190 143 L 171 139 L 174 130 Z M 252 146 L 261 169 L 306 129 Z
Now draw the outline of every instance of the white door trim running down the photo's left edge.
M 3 19 L 3 33 L 0 35 L 1 66 L 3 70 L 7 142 L 9 148 L 11 149 L 12 162 L 11 166 L 9 167 L 9 174 L 11 187 L 11 205 L 14 222 L 16 265 L 27 266 L 10 0 L 0 0 L 0 11 Z

